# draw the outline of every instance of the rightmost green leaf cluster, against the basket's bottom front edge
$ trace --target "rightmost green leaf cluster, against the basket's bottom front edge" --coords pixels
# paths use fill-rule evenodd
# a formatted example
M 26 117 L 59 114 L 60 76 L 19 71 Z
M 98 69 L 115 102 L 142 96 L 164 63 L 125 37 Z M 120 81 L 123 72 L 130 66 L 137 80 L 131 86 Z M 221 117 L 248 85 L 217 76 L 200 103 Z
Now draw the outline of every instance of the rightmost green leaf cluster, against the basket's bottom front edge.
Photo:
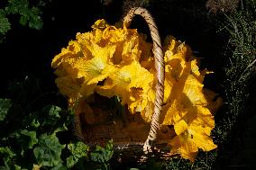
M 91 153 L 91 159 L 95 162 L 105 164 L 107 161 L 111 159 L 113 153 L 113 140 L 111 139 L 106 144 L 105 148 L 96 146 L 96 150 Z

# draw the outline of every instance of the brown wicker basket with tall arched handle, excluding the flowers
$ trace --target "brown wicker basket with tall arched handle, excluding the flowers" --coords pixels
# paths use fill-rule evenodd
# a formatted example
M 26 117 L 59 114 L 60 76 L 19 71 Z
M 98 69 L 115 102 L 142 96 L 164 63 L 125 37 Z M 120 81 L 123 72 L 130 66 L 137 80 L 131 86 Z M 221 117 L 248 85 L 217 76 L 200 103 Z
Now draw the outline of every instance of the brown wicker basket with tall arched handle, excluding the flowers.
M 104 145 L 109 139 L 114 139 L 115 156 L 140 158 L 147 154 L 146 157 L 152 155 L 169 157 L 171 154 L 167 140 L 172 139 L 175 133 L 168 126 L 160 127 L 160 112 L 164 94 L 164 60 L 160 35 L 151 13 L 141 7 L 131 9 L 124 17 L 124 28 L 130 26 L 133 16 L 136 14 L 141 15 L 148 23 L 153 41 L 157 85 L 151 123 L 144 122 L 139 112 L 131 114 L 127 108 L 124 109 L 123 113 L 118 112 L 118 109 L 104 111 L 96 106 L 107 105 L 106 98 L 95 95 L 92 99 L 94 103 L 94 107 L 91 107 L 93 108 L 92 111 L 89 111 L 90 108 L 87 107 L 87 103 L 82 101 L 78 104 L 75 117 L 75 135 L 89 146 Z M 100 123 L 98 121 L 97 123 L 87 123 L 83 112 L 91 112 L 93 119 L 100 120 Z

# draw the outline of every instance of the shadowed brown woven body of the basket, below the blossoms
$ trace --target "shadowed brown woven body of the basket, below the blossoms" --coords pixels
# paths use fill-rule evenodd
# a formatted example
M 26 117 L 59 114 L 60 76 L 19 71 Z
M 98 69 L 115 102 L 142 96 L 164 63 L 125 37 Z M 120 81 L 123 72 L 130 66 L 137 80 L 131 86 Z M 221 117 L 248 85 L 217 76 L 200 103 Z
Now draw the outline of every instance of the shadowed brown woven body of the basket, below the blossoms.
M 109 108 L 111 99 L 94 94 L 93 103 L 81 101 L 78 104 L 76 129 L 80 130 L 79 139 L 88 146 L 105 146 L 110 139 L 114 140 L 114 157 L 125 161 L 134 158 L 142 161 L 145 158 L 143 145 L 151 130 L 151 123 L 142 119 L 140 112 L 132 114 L 125 106 L 120 111 L 118 107 Z M 155 142 L 155 148 L 146 157 L 168 158 L 170 147 L 168 140 L 175 137 L 172 127 L 161 126 Z

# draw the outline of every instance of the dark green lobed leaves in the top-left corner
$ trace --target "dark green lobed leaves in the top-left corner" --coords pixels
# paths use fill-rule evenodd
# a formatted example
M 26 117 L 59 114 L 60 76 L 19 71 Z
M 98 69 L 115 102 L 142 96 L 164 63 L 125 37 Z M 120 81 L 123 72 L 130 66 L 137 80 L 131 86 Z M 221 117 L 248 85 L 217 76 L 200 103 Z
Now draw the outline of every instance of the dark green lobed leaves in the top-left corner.
M 4 39 L 7 31 L 11 30 L 11 23 L 8 20 L 10 15 L 19 15 L 22 25 L 28 24 L 32 29 L 40 30 L 42 19 L 38 6 L 30 5 L 28 0 L 8 0 L 6 6 L 0 9 L 0 40 Z

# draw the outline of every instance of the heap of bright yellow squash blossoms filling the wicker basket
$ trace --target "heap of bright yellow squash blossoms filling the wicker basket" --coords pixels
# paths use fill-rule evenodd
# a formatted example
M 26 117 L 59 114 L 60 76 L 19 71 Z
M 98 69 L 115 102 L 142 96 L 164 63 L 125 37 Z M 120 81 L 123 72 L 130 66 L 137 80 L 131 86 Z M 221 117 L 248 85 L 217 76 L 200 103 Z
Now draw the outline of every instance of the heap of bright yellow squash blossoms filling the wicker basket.
M 78 33 L 66 49 L 52 60 L 56 84 L 69 98 L 69 107 L 97 93 L 119 96 L 129 112 L 141 112 L 151 121 L 155 101 L 156 73 L 152 45 L 136 29 L 117 28 L 98 20 L 92 31 Z M 173 37 L 164 41 L 165 82 L 162 125 L 173 125 L 177 136 L 169 139 L 172 152 L 195 160 L 198 148 L 216 148 L 211 130 L 213 112 L 221 101 L 203 89 L 206 70 L 199 71 L 191 49 Z

